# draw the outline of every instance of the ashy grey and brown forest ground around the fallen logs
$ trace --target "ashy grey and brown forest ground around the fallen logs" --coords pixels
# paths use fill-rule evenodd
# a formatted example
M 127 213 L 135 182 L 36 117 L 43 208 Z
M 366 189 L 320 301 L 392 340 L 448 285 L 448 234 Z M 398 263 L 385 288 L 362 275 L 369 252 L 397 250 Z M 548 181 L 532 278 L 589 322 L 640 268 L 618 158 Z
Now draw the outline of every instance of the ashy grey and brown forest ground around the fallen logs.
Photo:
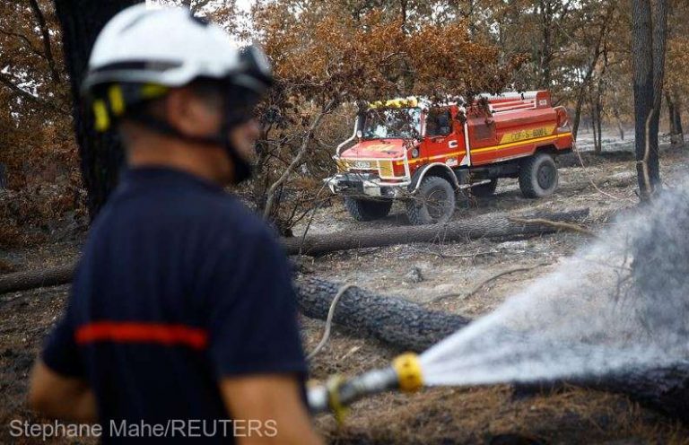
M 516 180 L 508 179 L 501 182 L 491 198 L 461 201 L 455 217 L 497 210 L 589 207 L 588 224 L 594 229 L 601 227 L 612 215 L 637 201 L 632 153 L 625 148 L 629 145 L 617 144 L 615 150 L 622 151 L 606 152 L 601 157 L 586 153 L 585 170 L 576 156 L 561 158 L 560 188 L 554 196 L 537 201 L 524 199 Z M 666 150 L 661 160 L 661 176 L 668 185 L 689 166 L 689 157 L 681 152 Z M 401 207 L 394 207 L 385 220 L 355 223 L 344 207 L 336 204 L 315 215 L 310 231 L 326 233 L 402 223 L 406 218 Z M 295 233 L 300 230 L 303 226 Z M 360 249 L 302 257 L 299 262 L 301 273 L 413 301 L 458 293 L 430 307 L 478 317 L 554 266 L 502 276 L 464 298 L 462 294 L 475 284 L 517 266 L 555 265 L 587 242 L 577 234 L 559 233 L 528 240 Z M 79 244 L 77 239 L 2 252 L 0 261 L 15 269 L 57 264 L 76 257 Z M 421 272 L 422 281 L 407 276 L 414 268 Z M 11 420 L 33 419 L 23 408 L 27 371 L 62 310 L 67 292 L 67 286 L 62 286 L 0 296 L 0 443 L 16 441 L 5 427 Z M 302 323 L 309 351 L 318 343 L 323 323 L 308 318 L 303 318 Z M 353 374 L 384 365 L 394 354 L 384 345 L 336 329 L 312 363 L 312 377 L 323 380 L 332 373 Z M 435 389 L 412 397 L 386 395 L 353 406 L 342 428 L 337 428 L 328 415 L 318 416 L 316 422 L 335 443 L 689 443 L 689 430 L 635 406 L 625 397 L 580 388 L 561 388 L 552 394 L 528 397 L 519 397 L 508 386 Z

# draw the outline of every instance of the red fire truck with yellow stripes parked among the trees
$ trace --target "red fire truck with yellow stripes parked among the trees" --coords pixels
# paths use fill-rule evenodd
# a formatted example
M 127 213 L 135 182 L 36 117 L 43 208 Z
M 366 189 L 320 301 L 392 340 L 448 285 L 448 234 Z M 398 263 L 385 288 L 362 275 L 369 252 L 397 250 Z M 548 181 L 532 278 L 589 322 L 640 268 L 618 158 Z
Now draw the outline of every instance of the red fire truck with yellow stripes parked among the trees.
M 330 190 L 359 221 L 386 216 L 406 201 L 413 224 L 445 223 L 456 193 L 490 196 L 499 178 L 518 178 L 524 196 L 557 187 L 554 156 L 574 144 L 567 111 L 550 93 L 480 95 L 474 103 L 418 98 L 372 102 L 340 144 Z

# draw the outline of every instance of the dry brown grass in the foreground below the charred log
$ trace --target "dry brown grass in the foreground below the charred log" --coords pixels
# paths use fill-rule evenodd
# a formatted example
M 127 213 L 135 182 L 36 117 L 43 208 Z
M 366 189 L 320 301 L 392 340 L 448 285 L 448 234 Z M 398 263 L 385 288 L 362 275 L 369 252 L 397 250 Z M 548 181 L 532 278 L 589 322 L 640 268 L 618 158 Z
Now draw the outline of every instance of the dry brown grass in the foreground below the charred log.
M 508 386 L 439 388 L 355 406 L 336 443 L 689 443 L 689 431 L 626 397 L 581 388 L 517 399 Z

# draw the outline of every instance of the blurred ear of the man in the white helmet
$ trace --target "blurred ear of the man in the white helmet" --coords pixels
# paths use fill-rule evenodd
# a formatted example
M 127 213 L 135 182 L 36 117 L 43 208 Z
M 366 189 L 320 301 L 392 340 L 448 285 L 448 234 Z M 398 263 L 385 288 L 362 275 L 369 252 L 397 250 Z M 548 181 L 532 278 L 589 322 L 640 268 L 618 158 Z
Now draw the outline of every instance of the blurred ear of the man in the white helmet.
M 190 88 L 175 88 L 165 100 L 165 115 L 172 127 L 185 135 L 213 134 L 219 126 L 217 112 Z

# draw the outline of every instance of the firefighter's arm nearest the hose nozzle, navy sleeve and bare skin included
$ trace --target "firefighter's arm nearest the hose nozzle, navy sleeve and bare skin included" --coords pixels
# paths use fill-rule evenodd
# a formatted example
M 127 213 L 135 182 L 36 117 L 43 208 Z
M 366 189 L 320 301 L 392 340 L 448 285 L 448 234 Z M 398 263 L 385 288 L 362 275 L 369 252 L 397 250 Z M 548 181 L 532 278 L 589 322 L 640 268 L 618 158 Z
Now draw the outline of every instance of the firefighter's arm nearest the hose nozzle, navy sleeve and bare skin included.
M 230 418 L 263 423 L 260 436 L 236 434 L 240 444 L 321 443 L 302 397 L 308 365 L 290 266 L 272 233 L 260 227 L 231 232 L 208 268 L 215 375 Z

